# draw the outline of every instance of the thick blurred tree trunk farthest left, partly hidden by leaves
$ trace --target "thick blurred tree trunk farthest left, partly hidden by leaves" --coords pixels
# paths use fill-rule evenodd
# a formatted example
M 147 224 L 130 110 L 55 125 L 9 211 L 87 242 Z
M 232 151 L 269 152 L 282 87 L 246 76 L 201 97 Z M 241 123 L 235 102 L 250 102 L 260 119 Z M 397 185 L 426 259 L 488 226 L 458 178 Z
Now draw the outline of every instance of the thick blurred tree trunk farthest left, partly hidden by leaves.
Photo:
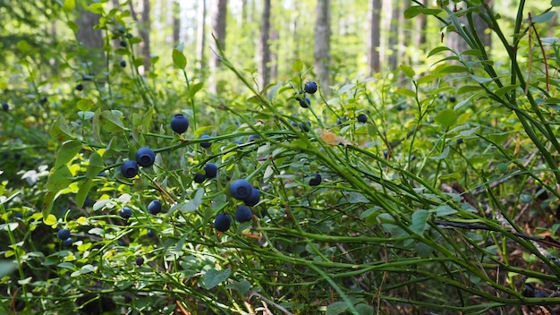
M 101 71 L 105 56 L 103 55 L 103 34 L 101 30 L 94 27 L 99 23 L 99 15 L 91 13 L 80 7 L 80 17 L 76 20 L 78 24 L 77 37 L 82 47 L 87 48 L 88 55 L 83 57 L 91 61 L 92 72 Z

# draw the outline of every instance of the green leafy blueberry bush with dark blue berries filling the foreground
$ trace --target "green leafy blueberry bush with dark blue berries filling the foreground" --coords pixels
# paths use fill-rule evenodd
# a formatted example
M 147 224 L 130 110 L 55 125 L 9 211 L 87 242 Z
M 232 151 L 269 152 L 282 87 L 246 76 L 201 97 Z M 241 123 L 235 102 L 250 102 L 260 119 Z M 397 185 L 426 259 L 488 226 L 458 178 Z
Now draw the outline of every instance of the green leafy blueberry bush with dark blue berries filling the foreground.
M 89 64 L 70 51 L 52 86 L 22 59 L 0 113 L 0 311 L 559 311 L 560 55 L 539 37 L 554 11 L 525 19 L 522 1 L 506 36 L 486 2 L 438 3 L 405 17 L 468 50 L 332 95 L 301 60 L 259 89 L 219 43 L 242 91 L 209 95 L 182 46 L 143 77 L 133 36 L 78 83 Z M 126 25 L 96 10 L 101 30 Z

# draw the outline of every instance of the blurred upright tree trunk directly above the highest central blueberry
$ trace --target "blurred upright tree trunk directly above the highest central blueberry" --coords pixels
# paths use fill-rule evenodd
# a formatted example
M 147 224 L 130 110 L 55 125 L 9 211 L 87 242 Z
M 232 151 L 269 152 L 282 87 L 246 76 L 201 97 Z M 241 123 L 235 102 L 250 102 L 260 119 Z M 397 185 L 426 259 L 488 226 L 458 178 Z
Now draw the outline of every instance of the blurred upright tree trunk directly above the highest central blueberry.
M 330 1 L 318 0 L 315 21 L 315 71 L 324 94 L 330 94 Z

